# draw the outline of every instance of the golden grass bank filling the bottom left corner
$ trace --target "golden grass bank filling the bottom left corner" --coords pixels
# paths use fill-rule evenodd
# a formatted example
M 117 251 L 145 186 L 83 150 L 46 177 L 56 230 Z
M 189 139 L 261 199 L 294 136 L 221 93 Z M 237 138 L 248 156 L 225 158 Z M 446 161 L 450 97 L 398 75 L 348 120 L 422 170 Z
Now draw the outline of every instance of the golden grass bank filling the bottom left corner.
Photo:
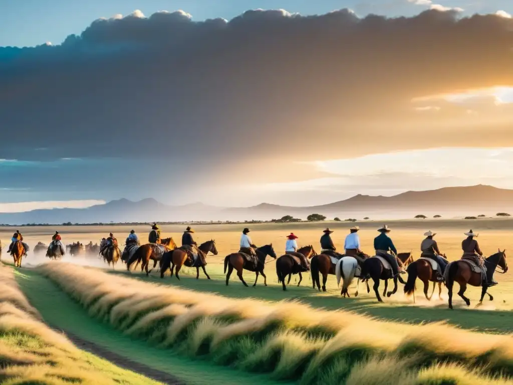
M 0 382 L 2 384 L 158 384 L 77 349 L 51 330 L 0 264 Z

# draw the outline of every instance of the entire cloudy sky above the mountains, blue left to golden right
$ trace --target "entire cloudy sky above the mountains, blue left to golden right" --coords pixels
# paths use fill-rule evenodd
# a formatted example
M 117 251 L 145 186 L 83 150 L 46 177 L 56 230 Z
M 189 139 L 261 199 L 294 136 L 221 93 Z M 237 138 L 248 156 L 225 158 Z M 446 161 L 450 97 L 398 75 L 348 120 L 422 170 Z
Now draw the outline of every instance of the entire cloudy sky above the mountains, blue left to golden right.
M 0 212 L 513 188 L 509 1 L 0 9 Z

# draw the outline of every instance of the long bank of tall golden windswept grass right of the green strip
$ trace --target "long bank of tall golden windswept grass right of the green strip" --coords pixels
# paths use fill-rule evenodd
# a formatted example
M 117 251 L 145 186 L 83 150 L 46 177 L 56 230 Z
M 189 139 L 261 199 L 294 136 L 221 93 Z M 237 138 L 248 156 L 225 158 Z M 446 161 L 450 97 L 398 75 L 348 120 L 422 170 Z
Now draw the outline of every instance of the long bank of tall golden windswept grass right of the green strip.
M 511 335 L 388 322 L 293 301 L 230 299 L 65 263 L 40 272 L 128 335 L 276 379 L 513 384 Z

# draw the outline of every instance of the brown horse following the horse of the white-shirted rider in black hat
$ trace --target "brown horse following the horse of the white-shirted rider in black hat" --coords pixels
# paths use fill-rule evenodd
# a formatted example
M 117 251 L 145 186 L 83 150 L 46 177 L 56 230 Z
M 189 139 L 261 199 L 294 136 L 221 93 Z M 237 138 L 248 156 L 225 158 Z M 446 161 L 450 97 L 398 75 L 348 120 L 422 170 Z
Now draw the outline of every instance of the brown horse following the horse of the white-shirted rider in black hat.
M 215 241 L 211 239 L 210 241 L 203 242 L 201 245 L 198 246 L 200 251 L 205 254 L 205 256 L 208 253 L 212 253 L 213 255 L 218 255 L 218 249 L 215 247 Z M 195 264 L 200 263 L 199 266 L 194 266 Z M 200 279 L 200 267 L 203 269 L 203 273 L 205 273 L 207 279 L 210 279 L 210 276 L 208 275 L 205 265 L 207 263 L 203 263 L 203 260 L 201 258 L 201 255 L 198 255 L 198 258 L 196 261 L 191 261 L 189 259 L 188 253 L 183 248 L 175 248 L 173 250 L 170 250 L 167 253 L 164 253 L 162 256 L 160 268 L 161 268 L 161 278 L 164 278 L 164 273 L 167 271 L 168 268 L 171 269 L 171 277 L 173 276 L 173 268 L 174 268 L 174 274 L 176 278 L 180 279 L 180 276 L 178 275 L 178 272 L 182 268 L 183 265 L 187 267 L 196 267 L 196 279 Z M 171 266 L 171 267 L 170 267 Z

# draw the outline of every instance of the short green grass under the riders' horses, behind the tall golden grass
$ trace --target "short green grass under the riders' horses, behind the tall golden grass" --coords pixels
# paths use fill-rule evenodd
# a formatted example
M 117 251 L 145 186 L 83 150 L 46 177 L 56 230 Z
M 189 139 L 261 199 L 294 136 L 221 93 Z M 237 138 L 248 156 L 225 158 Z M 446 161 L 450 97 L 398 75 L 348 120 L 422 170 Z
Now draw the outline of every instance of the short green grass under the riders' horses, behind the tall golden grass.
M 272 266 L 274 267 L 274 266 Z M 319 307 L 329 310 L 348 310 L 359 314 L 368 315 L 371 317 L 382 318 L 391 321 L 401 322 L 438 322 L 447 321 L 451 324 L 457 325 L 461 328 L 479 330 L 488 333 L 504 333 L 513 331 L 513 322 L 510 321 L 512 312 L 510 310 L 485 310 L 489 309 L 488 306 L 495 306 L 496 304 L 503 304 L 509 302 L 509 292 L 504 292 L 504 286 L 511 285 L 510 283 L 501 283 L 498 287 L 493 287 L 490 292 L 494 294 L 495 301 L 488 301 L 486 298 L 483 309 L 475 308 L 477 301 L 473 301 L 473 305 L 467 308 L 463 301 L 455 293 L 455 310 L 449 311 L 447 309 L 447 299 L 438 300 L 435 295 L 428 303 L 424 298 L 423 293 L 420 291 L 422 284 L 418 282 L 417 286 L 417 301 L 421 305 L 413 306 L 412 300 L 404 299 L 401 290 L 403 285 L 399 284 L 399 290 L 396 295 L 390 299 L 385 298 L 385 303 L 378 303 L 376 297 L 372 291 L 367 294 L 367 290 L 364 284 L 360 284 L 360 296 L 351 298 L 341 298 L 340 289 L 337 288 L 336 277 L 328 276 L 328 291 L 326 293 L 320 293 L 317 289 L 312 289 L 311 280 L 309 275 L 303 276 L 303 281 L 300 287 L 297 287 L 297 283 L 294 284 L 295 279 L 299 279 L 298 276 L 293 276 L 290 285 L 287 286 L 287 291 L 282 290 L 281 284 L 276 282 L 276 273 L 273 269 L 267 271 L 267 284 L 264 286 L 264 280 L 259 277 L 257 287 L 244 287 L 236 275 L 232 275 L 230 278 L 229 285 L 225 284 L 225 276 L 222 269 L 217 264 L 207 265 L 208 273 L 211 280 L 207 280 L 203 273 L 200 273 L 200 279 L 195 279 L 195 270 L 190 269 L 181 273 L 181 280 L 175 277 L 166 276 L 161 279 L 159 276 L 150 275 L 146 277 L 144 274 L 139 273 L 128 273 L 126 271 L 108 271 L 109 274 L 129 276 L 141 280 L 143 282 L 152 282 L 162 285 L 169 285 L 173 287 L 183 287 L 194 291 L 204 293 L 215 293 L 230 298 L 257 298 L 268 301 L 281 301 L 281 300 L 300 300 L 303 303 L 307 303 L 313 307 Z M 254 273 L 244 272 L 244 277 L 248 284 L 254 282 Z M 388 286 L 390 290 L 391 284 Z M 383 282 L 381 282 L 380 290 L 383 290 Z M 353 286 L 350 293 L 354 293 L 356 286 Z M 503 295 L 497 295 L 497 292 L 503 291 Z M 472 288 L 470 293 L 477 292 Z M 479 290 L 480 292 L 480 290 Z M 437 287 L 438 293 L 438 287 Z M 398 299 L 399 298 L 399 299 Z M 504 301 L 504 302 L 503 302 Z

